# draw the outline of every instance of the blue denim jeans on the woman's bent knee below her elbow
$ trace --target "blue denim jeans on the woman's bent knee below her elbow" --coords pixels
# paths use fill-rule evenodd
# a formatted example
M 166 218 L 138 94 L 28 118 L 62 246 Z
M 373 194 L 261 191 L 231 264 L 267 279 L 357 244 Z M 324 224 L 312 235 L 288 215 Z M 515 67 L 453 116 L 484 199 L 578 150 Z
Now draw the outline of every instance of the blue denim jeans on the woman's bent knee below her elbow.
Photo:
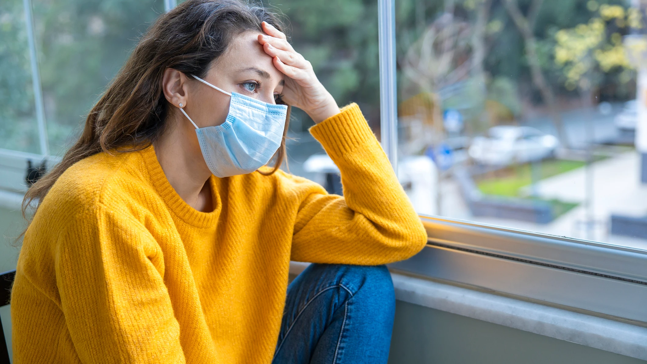
M 311 264 L 287 289 L 272 364 L 386 364 L 393 315 L 386 266 Z

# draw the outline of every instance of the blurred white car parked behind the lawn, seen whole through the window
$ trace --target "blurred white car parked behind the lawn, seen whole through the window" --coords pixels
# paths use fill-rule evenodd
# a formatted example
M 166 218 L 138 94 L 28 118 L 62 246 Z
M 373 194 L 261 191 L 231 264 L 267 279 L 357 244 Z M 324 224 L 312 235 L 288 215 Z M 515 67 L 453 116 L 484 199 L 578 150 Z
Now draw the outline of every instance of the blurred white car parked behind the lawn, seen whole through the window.
M 468 154 L 481 165 L 505 166 L 551 157 L 558 146 L 556 137 L 535 128 L 501 125 L 490 128 L 487 137 L 475 137 Z

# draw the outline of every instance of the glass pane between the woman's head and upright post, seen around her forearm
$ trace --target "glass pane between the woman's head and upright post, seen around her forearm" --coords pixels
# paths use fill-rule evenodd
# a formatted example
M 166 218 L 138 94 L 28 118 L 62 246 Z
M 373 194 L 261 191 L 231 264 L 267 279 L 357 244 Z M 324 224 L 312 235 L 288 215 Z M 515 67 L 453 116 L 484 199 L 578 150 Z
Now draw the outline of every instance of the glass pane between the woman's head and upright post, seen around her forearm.
M 356 102 L 379 135 L 377 1 L 287 0 L 271 5 L 289 18 L 287 33 L 294 49 L 312 63 L 339 106 Z M 289 170 L 341 193 L 334 163 L 322 157 L 321 145 L 307 131 L 313 125 L 305 113 L 293 111 Z

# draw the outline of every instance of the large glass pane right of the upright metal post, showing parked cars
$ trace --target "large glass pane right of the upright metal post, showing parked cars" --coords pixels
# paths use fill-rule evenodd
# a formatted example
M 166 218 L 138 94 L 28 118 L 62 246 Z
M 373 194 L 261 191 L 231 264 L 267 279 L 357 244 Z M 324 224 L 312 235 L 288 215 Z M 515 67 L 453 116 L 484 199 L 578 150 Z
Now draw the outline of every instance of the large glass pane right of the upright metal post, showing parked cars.
M 397 1 L 416 209 L 647 249 L 645 12 L 628 4 Z

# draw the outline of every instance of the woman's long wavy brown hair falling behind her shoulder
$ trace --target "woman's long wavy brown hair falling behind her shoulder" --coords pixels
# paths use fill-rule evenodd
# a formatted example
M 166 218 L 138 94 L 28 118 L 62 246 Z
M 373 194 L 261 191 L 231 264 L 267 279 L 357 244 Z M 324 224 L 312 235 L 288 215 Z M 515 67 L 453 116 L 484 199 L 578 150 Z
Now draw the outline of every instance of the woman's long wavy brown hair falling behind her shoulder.
M 204 78 L 210 63 L 223 54 L 234 36 L 248 30 L 263 32 L 263 21 L 283 31 L 276 14 L 242 0 L 188 0 L 162 14 L 87 115 L 78 141 L 58 165 L 29 188 L 23 199 L 23 216 L 34 199 L 40 205 L 58 177 L 81 159 L 99 152 L 133 152 L 150 146 L 164 132 L 169 113 L 161 84 L 164 71 L 171 68 L 190 78 Z M 290 111 L 288 107 L 274 168 L 259 171 L 266 176 L 276 172 L 285 157 Z

